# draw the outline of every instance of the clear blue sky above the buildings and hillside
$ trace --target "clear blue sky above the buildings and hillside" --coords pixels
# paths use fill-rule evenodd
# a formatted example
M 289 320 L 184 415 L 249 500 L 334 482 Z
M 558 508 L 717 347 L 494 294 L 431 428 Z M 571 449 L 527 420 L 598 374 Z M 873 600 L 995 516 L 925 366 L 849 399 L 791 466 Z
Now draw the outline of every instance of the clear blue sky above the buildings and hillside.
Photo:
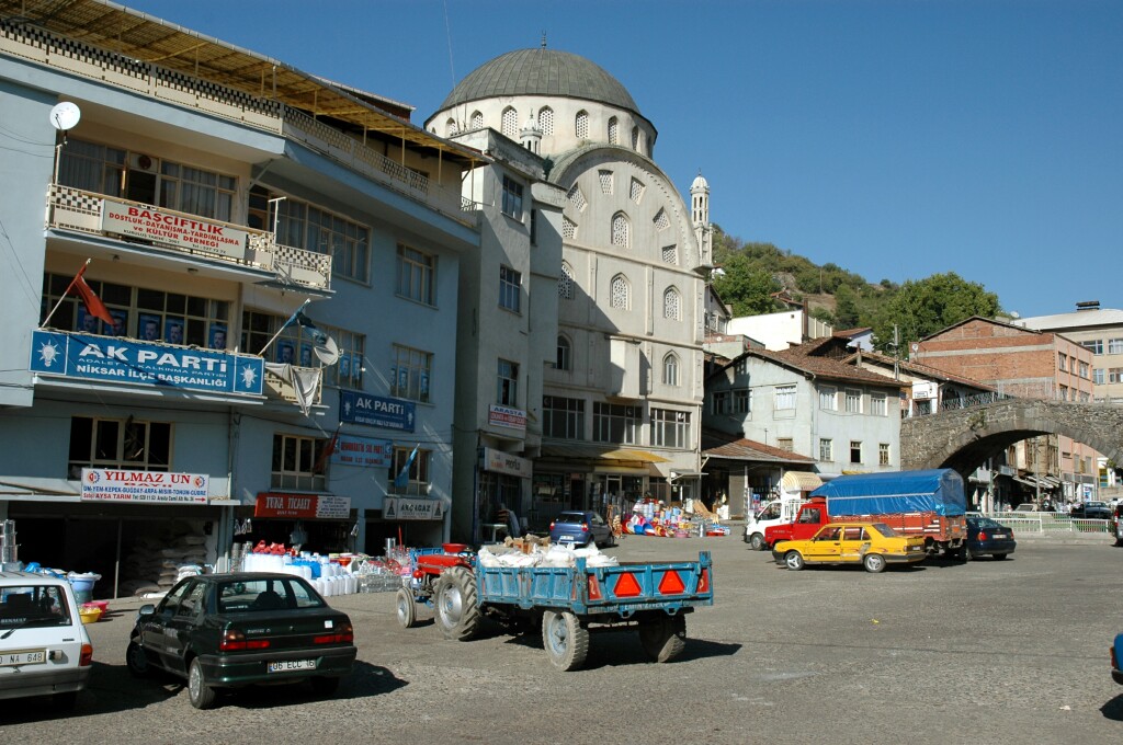
M 1123 307 L 1119 0 L 133 0 L 416 107 L 550 47 L 614 75 L 711 220 L 870 282 L 956 272 L 1023 316 Z

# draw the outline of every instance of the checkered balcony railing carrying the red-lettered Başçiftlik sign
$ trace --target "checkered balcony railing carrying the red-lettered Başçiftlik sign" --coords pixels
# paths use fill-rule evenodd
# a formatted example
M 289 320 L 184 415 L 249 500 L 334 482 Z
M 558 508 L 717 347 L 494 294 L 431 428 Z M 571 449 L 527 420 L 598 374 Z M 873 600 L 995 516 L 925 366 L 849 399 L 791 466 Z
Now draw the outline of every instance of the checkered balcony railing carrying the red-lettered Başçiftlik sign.
M 272 232 L 61 184 L 47 194 L 46 227 L 272 273 L 283 286 L 331 287 L 330 256 L 282 246 Z

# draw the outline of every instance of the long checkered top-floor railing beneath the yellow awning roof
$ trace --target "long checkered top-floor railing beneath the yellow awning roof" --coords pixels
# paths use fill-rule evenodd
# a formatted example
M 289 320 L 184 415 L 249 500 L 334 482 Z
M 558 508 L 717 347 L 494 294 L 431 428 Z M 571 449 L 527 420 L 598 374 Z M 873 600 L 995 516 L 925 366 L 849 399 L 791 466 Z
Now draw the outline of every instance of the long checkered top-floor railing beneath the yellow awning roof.
M 0 22 L 0 54 L 286 137 L 463 224 L 476 224 L 474 213 L 480 205 L 462 196 L 458 180 L 455 180 L 455 187 L 444 187 L 424 174 L 382 155 L 357 137 L 282 101 L 11 21 Z

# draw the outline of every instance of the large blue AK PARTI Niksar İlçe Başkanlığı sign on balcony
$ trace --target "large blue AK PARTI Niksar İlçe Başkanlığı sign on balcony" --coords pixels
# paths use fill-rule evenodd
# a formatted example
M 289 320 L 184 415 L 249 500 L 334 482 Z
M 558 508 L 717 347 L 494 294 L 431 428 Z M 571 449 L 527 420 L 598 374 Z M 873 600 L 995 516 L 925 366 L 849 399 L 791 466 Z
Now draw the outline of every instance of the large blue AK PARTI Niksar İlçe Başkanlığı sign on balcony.
M 261 396 L 264 360 L 256 355 L 38 329 L 31 332 L 29 369 L 66 378 Z

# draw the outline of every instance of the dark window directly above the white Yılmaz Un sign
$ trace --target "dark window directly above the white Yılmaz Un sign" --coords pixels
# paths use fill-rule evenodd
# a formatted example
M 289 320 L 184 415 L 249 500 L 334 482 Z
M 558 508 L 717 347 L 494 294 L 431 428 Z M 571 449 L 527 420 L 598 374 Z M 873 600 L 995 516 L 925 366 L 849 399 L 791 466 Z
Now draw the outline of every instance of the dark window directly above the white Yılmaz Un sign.
M 69 479 L 82 478 L 83 468 L 167 471 L 172 465 L 172 424 L 131 416 L 73 416 L 69 448 Z

